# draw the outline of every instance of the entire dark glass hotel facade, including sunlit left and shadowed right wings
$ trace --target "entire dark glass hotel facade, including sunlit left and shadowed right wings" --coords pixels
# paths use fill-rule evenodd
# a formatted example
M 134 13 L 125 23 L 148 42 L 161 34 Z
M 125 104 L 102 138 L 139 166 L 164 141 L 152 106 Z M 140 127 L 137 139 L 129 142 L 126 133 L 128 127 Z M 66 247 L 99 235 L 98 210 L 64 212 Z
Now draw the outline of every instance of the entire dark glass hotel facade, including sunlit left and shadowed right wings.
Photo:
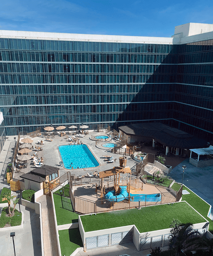
M 209 138 L 212 40 L 198 43 L 1 36 L 0 110 L 7 135 L 51 124 L 116 129 L 156 121 Z

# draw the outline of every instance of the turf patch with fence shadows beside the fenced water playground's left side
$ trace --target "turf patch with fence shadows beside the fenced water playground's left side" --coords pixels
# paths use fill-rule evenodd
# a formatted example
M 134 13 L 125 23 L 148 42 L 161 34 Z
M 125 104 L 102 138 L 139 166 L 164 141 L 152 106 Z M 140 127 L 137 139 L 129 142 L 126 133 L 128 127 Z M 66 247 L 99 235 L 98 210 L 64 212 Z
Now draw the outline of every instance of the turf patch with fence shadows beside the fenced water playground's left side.
M 53 194 L 53 199 L 58 225 L 78 222 L 79 214 L 73 212 L 70 198 Z

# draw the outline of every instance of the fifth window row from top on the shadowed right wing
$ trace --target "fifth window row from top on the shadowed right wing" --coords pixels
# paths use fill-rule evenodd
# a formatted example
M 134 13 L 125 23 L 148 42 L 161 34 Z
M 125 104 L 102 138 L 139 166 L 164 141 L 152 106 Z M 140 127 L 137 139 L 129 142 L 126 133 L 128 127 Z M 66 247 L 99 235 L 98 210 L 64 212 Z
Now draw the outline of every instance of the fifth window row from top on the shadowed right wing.
M 175 91 L 181 94 L 197 95 L 213 99 L 213 87 L 178 84 L 175 87 Z

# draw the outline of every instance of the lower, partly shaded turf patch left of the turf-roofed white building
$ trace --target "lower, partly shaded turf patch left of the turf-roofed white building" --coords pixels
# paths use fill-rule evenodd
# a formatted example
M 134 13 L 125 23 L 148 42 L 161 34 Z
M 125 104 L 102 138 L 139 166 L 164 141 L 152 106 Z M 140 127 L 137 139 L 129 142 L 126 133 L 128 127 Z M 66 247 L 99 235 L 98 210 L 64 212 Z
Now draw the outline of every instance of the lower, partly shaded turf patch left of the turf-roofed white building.
M 77 248 L 82 247 L 82 239 L 78 228 L 59 230 L 61 255 L 69 256 Z

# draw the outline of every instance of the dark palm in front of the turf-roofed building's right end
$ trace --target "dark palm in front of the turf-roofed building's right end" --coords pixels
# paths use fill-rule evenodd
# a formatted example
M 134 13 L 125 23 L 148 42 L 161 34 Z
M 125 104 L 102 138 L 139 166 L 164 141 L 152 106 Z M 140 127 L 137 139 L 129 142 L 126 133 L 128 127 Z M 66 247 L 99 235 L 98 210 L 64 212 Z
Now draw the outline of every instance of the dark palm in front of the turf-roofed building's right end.
M 200 232 L 193 229 L 192 223 L 178 224 L 174 221 L 169 235 L 169 248 L 172 249 L 172 255 L 179 256 L 183 251 L 191 250 L 200 240 Z

